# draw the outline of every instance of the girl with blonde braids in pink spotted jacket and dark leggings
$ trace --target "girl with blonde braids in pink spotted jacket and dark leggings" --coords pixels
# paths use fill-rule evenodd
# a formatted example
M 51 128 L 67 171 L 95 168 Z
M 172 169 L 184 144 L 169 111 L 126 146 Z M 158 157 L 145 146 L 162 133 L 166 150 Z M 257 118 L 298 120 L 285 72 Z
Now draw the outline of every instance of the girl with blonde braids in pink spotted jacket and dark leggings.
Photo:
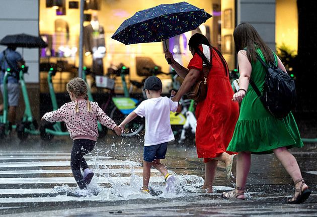
M 98 138 L 98 121 L 114 130 L 118 136 L 121 135 L 121 129 L 104 113 L 97 102 L 89 101 L 85 80 L 78 77 L 72 78 L 66 84 L 66 90 L 71 102 L 65 103 L 56 111 L 46 113 L 42 120 L 66 123 L 70 138 L 73 139 L 70 156 L 71 171 L 80 189 L 87 189 L 94 173 L 89 169 L 84 155 L 95 147 Z

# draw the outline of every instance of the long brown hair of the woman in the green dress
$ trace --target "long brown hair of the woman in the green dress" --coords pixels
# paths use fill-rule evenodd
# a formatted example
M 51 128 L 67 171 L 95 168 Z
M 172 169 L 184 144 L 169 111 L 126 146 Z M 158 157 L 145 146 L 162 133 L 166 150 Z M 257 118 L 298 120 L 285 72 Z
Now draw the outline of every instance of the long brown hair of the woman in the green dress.
M 236 52 L 247 47 L 247 57 L 251 62 L 257 61 L 256 49 L 260 48 L 265 61 L 274 62 L 272 50 L 265 44 L 257 30 L 249 23 L 241 23 L 233 31 Z

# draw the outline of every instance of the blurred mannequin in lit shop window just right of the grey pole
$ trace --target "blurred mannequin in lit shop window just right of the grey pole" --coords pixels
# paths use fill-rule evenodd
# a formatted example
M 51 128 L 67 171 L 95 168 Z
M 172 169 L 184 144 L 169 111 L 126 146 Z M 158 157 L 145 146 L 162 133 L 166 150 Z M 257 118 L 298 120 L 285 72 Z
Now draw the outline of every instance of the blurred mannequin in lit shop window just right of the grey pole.
M 106 54 L 105 33 L 99 25 L 97 14 L 92 15 L 92 21 L 84 28 L 85 56 L 93 58 L 92 73 L 104 75 L 103 58 Z

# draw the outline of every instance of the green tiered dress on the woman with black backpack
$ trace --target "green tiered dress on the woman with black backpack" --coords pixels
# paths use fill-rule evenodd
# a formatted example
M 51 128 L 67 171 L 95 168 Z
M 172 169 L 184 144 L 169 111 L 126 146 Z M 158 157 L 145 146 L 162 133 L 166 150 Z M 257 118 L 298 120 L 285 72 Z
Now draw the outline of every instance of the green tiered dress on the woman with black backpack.
M 260 49 L 259 56 L 264 59 Z M 275 62 L 277 64 L 277 57 Z M 263 92 L 266 68 L 258 60 L 252 62 L 251 78 Z M 248 92 L 241 102 L 240 117 L 237 121 L 227 151 L 251 151 L 252 154 L 270 154 L 279 147 L 300 148 L 303 143 L 292 113 L 279 120 L 263 106 L 257 93 L 249 84 Z

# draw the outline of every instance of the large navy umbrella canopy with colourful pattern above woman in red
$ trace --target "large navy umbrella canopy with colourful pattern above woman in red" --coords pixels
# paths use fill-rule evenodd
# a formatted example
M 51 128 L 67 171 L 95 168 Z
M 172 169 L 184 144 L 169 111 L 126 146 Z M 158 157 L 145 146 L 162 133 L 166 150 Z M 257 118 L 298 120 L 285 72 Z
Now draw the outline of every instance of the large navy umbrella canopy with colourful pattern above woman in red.
M 125 45 L 161 42 L 195 30 L 212 16 L 188 3 L 159 5 L 135 13 L 111 37 Z

